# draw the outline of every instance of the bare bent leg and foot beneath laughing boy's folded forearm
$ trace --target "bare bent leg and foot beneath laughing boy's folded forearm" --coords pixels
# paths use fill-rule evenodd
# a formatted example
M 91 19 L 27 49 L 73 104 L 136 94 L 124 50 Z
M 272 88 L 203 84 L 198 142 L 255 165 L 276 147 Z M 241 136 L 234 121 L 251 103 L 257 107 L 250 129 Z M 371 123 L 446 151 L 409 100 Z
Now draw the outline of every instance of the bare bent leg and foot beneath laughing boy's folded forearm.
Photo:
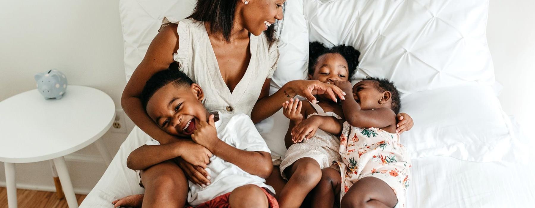
M 188 196 L 188 181 L 184 172 L 172 161 L 141 171 L 145 194 L 131 195 L 114 202 L 123 207 L 183 207 Z

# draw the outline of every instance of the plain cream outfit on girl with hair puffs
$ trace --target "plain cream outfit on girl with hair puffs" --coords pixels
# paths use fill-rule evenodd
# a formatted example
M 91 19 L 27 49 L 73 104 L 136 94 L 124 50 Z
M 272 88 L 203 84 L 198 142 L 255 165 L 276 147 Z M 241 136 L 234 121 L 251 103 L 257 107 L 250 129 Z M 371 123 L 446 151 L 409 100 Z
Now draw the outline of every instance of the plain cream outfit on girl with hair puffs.
M 309 102 L 310 103 L 310 102 Z M 337 119 L 341 119 L 339 115 L 334 112 L 325 112 L 318 104 L 310 103 L 316 113 L 308 115 L 307 119 L 312 115 L 332 116 Z M 340 161 L 341 157 L 338 153 L 340 149 L 340 139 L 338 136 L 324 132 L 322 129 L 318 129 L 316 134 L 309 140 L 303 140 L 301 143 L 292 144 L 286 151 L 286 155 L 282 158 L 280 163 L 280 174 L 282 178 L 288 180 L 284 170 L 295 163 L 298 159 L 309 157 L 316 160 L 321 169 L 326 167 L 333 167 L 338 170 L 338 164 L 336 161 Z

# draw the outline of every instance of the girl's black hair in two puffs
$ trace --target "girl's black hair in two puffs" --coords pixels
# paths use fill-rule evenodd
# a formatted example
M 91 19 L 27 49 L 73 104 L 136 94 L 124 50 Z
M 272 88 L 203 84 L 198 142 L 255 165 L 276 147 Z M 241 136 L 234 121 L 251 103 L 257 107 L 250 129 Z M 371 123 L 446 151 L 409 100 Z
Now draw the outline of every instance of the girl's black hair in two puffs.
M 337 45 L 333 48 L 327 48 L 323 43 L 314 41 L 308 44 L 309 57 L 308 57 L 308 74 L 314 74 L 314 67 L 317 64 L 318 58 L 326 53 L 338 53 L 342 55 L 347 61 L 349 77 L 353 75 L 353 72 L 357 69 L 358 56 L 361 52 L 356 50 L 350 45 Z

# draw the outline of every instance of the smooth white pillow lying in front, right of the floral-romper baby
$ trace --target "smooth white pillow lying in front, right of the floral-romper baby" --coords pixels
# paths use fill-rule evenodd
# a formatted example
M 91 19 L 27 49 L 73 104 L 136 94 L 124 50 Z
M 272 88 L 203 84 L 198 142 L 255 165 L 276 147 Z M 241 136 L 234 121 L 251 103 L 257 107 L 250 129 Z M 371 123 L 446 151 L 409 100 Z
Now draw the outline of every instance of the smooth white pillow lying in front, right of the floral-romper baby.
M 401 112 L 415 123 L 401 134 L 412 158 L 439 155 L 515 162 L 523 156 L 510 119 L 490 86 L 469 83 L 413 93 L 401 99 Z

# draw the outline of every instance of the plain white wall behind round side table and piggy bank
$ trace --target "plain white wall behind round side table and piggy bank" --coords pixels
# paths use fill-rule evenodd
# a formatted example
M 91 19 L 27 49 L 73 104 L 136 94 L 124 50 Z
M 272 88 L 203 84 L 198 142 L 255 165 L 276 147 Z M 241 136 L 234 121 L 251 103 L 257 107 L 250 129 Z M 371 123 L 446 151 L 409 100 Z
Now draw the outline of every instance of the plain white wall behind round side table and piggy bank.
M 104 91 L 120 109 L 126 81 L 118 0 L 0 1 L 0 101 L 35 89 L 33 75 L 52 68 L 64 72 L 69 84 Z M 101 140 L 114 156 L 126 136 L 108 132 Z M 94 145 L 66 160 L 81 193 L 89 192 L 106 168 Z M 19 187 L 54 189 L 48 162 L 18 164 L 16 170 Z M 0 186 L 5 186 L 3 164 Z

